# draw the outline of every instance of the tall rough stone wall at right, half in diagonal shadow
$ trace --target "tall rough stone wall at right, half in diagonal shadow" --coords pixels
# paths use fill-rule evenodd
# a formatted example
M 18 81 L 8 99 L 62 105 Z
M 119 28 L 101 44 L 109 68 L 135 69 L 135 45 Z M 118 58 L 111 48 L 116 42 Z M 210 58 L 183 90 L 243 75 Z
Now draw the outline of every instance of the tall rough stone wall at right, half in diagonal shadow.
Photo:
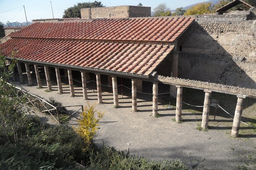
M 199 19 L 178 40 L 179 77 L 256 89 L 255 33 L 256 20 Z

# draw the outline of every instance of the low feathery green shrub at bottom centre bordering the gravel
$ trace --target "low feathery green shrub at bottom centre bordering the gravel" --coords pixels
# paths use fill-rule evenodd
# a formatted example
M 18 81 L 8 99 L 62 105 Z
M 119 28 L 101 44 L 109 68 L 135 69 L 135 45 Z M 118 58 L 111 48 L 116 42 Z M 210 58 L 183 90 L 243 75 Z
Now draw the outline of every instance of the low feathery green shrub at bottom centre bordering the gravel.
M 103 146 L 91 152 L 88 169 L 108 170 L 188 170 L 181 160 L 154 161 L 143 157 L 132 157 L 128 152 L 120 152 L 113 147 Z

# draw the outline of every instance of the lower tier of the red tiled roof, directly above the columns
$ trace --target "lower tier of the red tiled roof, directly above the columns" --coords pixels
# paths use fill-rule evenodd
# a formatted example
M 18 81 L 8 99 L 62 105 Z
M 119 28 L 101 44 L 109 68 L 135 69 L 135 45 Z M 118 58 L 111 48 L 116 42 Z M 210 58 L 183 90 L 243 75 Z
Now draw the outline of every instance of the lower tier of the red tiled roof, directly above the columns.
M 14 49 L 21 59 L 149 75 L 173 46 L 20 38 L 0 45 L 5 56 Z

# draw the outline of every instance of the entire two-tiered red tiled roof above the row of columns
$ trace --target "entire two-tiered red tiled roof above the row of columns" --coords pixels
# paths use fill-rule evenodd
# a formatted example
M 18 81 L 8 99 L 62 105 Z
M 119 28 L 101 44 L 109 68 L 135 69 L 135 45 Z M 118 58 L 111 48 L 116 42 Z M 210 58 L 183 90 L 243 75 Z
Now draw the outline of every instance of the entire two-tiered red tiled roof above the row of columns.
M 34 23 L 10 34 L 0 51 L 16 58 L 150 75 L 194 19 L 128 18 Z

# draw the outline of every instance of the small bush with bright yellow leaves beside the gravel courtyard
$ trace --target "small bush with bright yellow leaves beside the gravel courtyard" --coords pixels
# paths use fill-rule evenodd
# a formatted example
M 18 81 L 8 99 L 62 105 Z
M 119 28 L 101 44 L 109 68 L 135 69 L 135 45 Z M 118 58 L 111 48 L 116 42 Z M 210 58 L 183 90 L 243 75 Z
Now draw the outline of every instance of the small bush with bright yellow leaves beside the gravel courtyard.
M 87 148 L 90 146 L 93 140 L 93 136 L 96 134 L 99 126 L 99 120 L 103 117 L 104 112 L 95 110 L 95 104 L 84 107 L 84 111 L 80 114 L 81 120 L 78 120 L 78 127 L 75 131 L 83 138 Z

